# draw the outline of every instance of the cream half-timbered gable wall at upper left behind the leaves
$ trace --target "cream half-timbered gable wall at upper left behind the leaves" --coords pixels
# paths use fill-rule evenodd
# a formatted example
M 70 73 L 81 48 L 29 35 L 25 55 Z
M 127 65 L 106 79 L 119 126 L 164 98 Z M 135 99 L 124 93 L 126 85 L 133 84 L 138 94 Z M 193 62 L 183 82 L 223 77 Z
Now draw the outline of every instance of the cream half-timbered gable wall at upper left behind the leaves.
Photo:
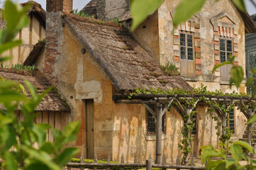
M 1 56 L 12 55 L 13 58 L 4 62 L 4 67 L 11 67 L 15 64 L 23 64 L 23 62 L 28 57 L 33 46 L 38 42 L 38 40 L 45 39 L 45 28 L 40 25 L 39 21 L 35 16 L 30 15 L 30 25 L 23 28 L 18 35 L 16 35 L 17 40 L 22 40 L 22 45 L 15 47 L 7 52 L 4 52 Z

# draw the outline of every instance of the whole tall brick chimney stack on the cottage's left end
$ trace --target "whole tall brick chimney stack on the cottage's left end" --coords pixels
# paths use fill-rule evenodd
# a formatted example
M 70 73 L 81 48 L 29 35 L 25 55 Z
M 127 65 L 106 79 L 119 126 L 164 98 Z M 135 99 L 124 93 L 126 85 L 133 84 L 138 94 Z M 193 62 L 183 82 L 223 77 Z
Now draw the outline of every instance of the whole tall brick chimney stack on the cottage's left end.
M 62 13 L 71 13 L 73 0 L 46 0 L 46 26 L 45 26 L 45 60 L 43 74 L 51 84 L 57 86 L 60 67 L 58 60 L 63 55 L 63 21 Z

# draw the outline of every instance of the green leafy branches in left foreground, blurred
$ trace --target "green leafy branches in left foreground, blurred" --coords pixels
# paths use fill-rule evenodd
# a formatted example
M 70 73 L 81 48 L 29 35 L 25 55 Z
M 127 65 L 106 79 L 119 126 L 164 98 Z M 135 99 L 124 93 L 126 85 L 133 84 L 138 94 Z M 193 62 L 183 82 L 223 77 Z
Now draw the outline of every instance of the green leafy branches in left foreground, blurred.
M 30 6 L 22 8 L 10 0 L 6 1 L 6 28 L 0 30 L 0 53 L 21 44 L 14 38 L 19 30 L 28 26 L 28 8 Z M 0 62 L 8 59 L 1 58 Z M 65 145 L 76 140 L 80 123 L 69 123 L 64 132 L 51 130 L 54 142 L 48 142 L 46 131 L 51 127 L 43 123 L 35 125 L 34 119 L 38 115 L 35 108 L 52 88 L 38 94 L 30 82 L 25 81 L 25 84 L 26 88 L 15 81 L 0 79 L 0 159 L 4 161 L 1 168 L 59 170 L 79 152 L 79 149 Z M 17 111 L 21 111 L 23 120 L 18 120 Z

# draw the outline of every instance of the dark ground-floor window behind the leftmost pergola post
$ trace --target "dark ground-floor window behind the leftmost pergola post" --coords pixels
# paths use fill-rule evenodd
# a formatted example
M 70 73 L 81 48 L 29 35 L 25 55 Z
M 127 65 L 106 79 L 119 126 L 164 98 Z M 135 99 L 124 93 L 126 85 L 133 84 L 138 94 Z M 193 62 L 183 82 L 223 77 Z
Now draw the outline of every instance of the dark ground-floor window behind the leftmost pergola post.
M 148 105 L 152 109 L 152 111 L 155 111 L 156 113 L 156 106 L 154 104 Z M 165 113 L 166 114 L 166 113 Z M 162 116 L 162 132 L 165 132 L 165 114 Z M 148 134 L 155 134 L 156 132 L 156 127 L 157 127 L 157 120 L 154 115 L 146 110 L 146 115 L 147 115 L 147 125 L 148 125 Z

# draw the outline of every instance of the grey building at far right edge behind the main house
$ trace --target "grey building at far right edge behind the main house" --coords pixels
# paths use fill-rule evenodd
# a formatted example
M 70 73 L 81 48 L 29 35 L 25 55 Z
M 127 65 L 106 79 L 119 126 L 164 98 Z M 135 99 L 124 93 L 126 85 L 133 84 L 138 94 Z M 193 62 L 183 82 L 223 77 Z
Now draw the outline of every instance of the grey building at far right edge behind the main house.
M 256 14 L 251 16 L 256 23 Z M 250 70 L 256 66 L 256 33 L 245 35 L 245 57 L 246 57 L 246 77 L 251 77 Z M 247 88 L 247 92 L 252 93 L 252 89 Z

